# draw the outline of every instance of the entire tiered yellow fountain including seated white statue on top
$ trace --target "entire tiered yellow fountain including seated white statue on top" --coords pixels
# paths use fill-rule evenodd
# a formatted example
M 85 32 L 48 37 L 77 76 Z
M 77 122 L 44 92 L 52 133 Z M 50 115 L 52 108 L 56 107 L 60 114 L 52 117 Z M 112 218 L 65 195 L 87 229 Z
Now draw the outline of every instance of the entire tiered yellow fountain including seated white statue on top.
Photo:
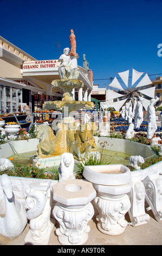
M 77 125 L 73 117 L 73 111 L 79 109 L 94 109 L 94 103 L 91 101 L 73 100 L 73 89 L 82 88 L 83 82 L 79 80 L 79 69 L 77 68 L 78 56 L 69 56 L 69 48 L 64 48 L 64 53 L 60 56 L 59 75 L 60 80 L 51 82 L 53 87 L 63 90 L 62 101 L 47 101 L 44 107 L 48 110 L 55 109 L 63 113 L 62 123 L 53 130 L 47 125 L 37 125 L 38 144 L 37 157 L 33 160 L 34 165 L 48 167 L 58 165 L 63 153 L 72 153 L 77 160 L 81 160 L 81 154 L 85 153 L 88 145 L 95 151 L 97 146 L 92 135 L 92 128 L 87 124 Z M 45 154 L 42 154 L 42 150 Z M 48 159 L 47 159 L 48 158 Z

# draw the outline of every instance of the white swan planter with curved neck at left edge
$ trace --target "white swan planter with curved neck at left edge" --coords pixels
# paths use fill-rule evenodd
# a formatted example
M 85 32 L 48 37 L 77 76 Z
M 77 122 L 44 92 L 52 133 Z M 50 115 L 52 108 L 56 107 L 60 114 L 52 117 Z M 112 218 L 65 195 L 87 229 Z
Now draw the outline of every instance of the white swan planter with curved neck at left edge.
M 21 235 L 27 224 L 27 212 L 12 193 L 11 180 L 7 174 L 1 176 L 1 186 L 4 192 L 5 217 L 0 217 L 0 234 L 14 239 Z

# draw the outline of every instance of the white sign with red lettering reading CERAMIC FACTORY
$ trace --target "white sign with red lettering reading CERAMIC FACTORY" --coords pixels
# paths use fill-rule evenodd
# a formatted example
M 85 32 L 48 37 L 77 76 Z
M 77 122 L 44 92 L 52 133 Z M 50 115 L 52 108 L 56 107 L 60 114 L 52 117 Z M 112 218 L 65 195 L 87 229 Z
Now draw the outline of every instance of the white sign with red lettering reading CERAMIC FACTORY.
M 58 59 L 35 60 L 35 61 L 23 63 L 23 69 L 47 69 L 47 68 L 58 68 L 59 66 L 60 66 L 60 62 L 58 62 Z

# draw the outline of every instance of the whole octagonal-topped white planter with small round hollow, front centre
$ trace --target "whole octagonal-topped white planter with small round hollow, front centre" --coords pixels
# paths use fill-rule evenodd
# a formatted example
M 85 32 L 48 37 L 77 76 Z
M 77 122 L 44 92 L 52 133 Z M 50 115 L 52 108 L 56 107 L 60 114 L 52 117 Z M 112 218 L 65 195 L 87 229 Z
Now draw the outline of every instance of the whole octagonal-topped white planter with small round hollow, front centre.
M 83 245 L 88 239 L 88 221 L 94 215 L 90 203 L 96 196 L 92 184 L 83 180 L 62 180 L 53 186 L 57 201 L 53 215 L 60 224 L 56 229 L 62 245 Z

